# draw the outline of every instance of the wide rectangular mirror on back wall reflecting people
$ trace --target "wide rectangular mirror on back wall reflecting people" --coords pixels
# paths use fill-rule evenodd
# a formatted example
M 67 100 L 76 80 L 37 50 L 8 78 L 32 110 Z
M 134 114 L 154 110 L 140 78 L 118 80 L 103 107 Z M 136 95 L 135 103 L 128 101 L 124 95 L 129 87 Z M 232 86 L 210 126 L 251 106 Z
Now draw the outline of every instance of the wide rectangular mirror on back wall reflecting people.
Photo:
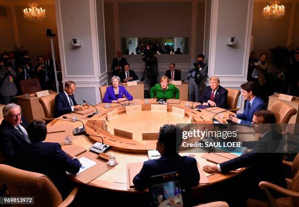
M 122 52 L 125 55 L 188 54 L 189 38 L 122 38 Z

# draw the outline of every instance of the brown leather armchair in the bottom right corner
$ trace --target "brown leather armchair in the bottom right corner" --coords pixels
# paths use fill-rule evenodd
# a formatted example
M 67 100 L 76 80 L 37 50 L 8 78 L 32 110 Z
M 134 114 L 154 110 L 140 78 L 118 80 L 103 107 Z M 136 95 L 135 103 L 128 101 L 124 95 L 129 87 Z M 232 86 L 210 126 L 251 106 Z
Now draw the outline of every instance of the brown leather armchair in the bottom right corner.
M 294 177 L 291 179 L 286 179 L 286 182 L 290 182 L 288 185 L 288 189 L 277 186 L 270 182 L 262 181 L 258 184 L 259 188 L 264 190 L 267 197 L 268 202 L 259 201 L 255 199 L 247 199 L 246 206 L 247 207 L 298 207 L 299 206 L 299 154 L 295 157 L 293 163 L 283 161 L 284 165 L 290 166 L 292 172 L 295 173 Z M 275 199 L 269 188 L 272 190 L 276 190 L 286 197 L 281 197 Z

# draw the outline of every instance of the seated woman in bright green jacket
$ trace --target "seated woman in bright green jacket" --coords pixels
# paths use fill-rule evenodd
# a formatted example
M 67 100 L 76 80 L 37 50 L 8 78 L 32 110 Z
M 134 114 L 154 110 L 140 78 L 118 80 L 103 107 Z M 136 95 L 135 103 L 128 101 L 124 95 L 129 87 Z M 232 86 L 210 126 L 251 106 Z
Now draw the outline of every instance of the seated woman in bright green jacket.
M 162 76 L 160 78 L 160 84 L 155 84 L 150 89 L 150 98 L 153 99 L 155 96 L 157 99 L 175 99 L 180 98 L 180 91 L 175 85 L 168 84 L 169 78 L 167 76 Z

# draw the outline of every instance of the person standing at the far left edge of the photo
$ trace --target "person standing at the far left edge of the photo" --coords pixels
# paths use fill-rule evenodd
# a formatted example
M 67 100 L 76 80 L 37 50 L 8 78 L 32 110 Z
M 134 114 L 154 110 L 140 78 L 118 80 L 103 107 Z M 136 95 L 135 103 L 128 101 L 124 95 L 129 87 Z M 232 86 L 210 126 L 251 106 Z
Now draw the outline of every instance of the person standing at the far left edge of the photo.
M 17 74 L 14 71 L 8 56 L 4 55 L 0 59 L 0 94 L 2 96 L 2 104 L 9 104 L 16 101 L 17 87 L 15 78 Z

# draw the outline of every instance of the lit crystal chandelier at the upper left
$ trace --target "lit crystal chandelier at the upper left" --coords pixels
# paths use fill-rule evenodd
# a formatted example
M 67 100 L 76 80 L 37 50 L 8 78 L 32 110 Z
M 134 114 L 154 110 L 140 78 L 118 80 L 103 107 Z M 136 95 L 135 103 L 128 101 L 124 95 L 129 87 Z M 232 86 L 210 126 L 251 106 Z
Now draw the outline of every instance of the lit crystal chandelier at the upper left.
M 24 9 L 24 18 L 29 21 L 41 21 L 46 18 L 45 9 L 38 8 L 38 4 L 33 0 L 29 3 L 29 9 Z

